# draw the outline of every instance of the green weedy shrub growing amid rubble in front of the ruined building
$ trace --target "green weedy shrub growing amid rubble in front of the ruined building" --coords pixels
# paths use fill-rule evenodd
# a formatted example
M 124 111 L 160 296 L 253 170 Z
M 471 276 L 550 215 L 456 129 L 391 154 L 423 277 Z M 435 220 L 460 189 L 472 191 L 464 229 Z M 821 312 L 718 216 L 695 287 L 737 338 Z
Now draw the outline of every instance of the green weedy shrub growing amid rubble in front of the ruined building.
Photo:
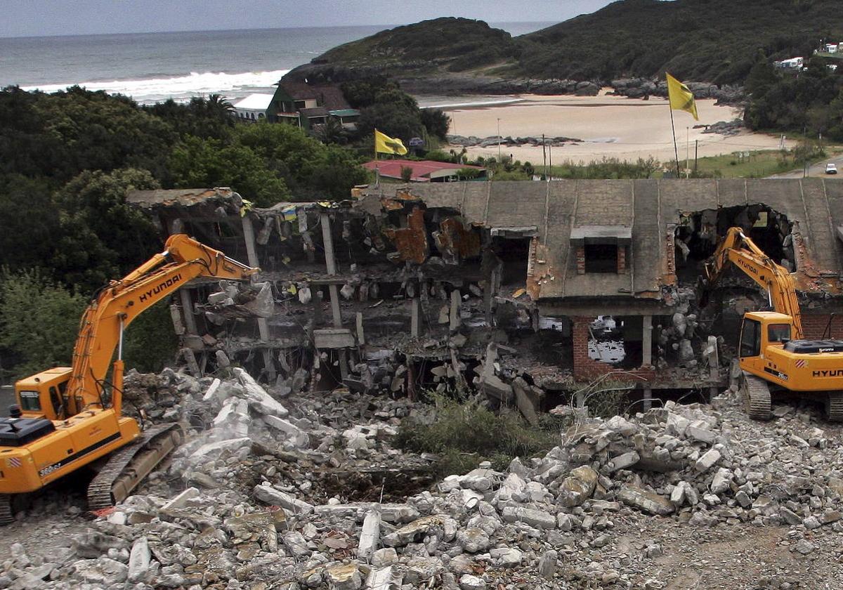
M 439 455 L 439 475 L 464 474 L 481 461 L 503 469 L 515 457 L 531 457 L 556 446 L 563 426 L 554 416 L 529 426 L 515 411 L 496 414 L 477 400 L 428 394 L 436 408 L 429 423 L 405 421 L 396 445 L 416 453 Z

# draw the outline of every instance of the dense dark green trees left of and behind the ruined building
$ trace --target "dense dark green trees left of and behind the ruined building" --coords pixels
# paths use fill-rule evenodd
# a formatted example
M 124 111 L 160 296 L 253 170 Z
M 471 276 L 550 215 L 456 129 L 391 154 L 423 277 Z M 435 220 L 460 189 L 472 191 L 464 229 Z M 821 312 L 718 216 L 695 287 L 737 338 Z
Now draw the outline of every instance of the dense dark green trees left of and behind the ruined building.
M 293 126 L 235 125 L 230 108 L 218 96 L 142 107 L 82 88 L 0 91 L 0 368 L 7 375 L 67 365 L 92 294 L 160 251 L 163 236 L 126 204 L 127 190 L 228 185 L 269 206 L 346 198 L 368 180 L 352 151 Z M 129 367 L 159 369 L 174 351 L 165 305 L 127 332 Z

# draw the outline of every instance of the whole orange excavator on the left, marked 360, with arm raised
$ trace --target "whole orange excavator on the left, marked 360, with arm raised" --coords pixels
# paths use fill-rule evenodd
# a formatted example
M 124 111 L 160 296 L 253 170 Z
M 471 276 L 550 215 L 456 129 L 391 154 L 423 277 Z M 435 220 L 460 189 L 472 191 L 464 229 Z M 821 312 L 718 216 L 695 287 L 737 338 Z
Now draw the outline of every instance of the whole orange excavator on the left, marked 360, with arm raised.
M 79 323 L 72 367 L 19 380 L 18 405 L 0 418 L 0 524 L 13 520 L 14 500 L 86 466 L 97 472 L 89 509 L 126 498 L 178 445 L 181 432 L 176 424 L 142 430 L 123 416 L 124 330 L 197 276 L 244 280 L 257 271 L 174 234 L 163 253 L 100 290 Z

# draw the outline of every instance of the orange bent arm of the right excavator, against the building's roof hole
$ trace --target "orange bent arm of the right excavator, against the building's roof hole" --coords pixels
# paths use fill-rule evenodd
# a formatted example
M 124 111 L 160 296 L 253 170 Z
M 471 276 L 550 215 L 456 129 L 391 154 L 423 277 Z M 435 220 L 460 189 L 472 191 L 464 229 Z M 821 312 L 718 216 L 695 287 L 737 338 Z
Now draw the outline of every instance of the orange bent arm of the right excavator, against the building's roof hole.
M 732 263 L 767 292 L 773 309 L 793 319 L 793 340 L 803 337 L 802 316 L 793 278 L 784 266 L 776 264 L 768 255 L 744 235 L 741 228 L 729 228 L 726 237 L 706 260 L 706 289 L 711 289 Z

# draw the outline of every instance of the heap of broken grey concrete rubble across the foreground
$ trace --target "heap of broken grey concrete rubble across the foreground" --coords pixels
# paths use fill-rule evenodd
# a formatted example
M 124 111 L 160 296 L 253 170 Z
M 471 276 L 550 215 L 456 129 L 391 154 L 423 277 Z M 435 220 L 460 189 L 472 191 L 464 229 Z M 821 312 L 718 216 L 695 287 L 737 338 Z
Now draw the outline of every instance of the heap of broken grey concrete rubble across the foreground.
M 749 421 L 733 390 L 608 420 L 560 406 L 574 421 L 544 457 L 353 500 L 346 485 L 326 491 L 325 475 L 424 464 L 389 446 L 421 407 L 348 392 L 282 402 L 240 369 L 128 381 L 166 385 L 147 391 L 150 420 L 207 428 L 188 429 L 167 466 L 66 548 L 13 545 L 3 587 L 662 588 L 654 572 L 671 548 L 658 539 L 741 527 L 781 531 L 794 559 L 840 559 L 839 432 L 792 406 Z M 800 587 L 782 568 L 768 582 L 758 587 Z

